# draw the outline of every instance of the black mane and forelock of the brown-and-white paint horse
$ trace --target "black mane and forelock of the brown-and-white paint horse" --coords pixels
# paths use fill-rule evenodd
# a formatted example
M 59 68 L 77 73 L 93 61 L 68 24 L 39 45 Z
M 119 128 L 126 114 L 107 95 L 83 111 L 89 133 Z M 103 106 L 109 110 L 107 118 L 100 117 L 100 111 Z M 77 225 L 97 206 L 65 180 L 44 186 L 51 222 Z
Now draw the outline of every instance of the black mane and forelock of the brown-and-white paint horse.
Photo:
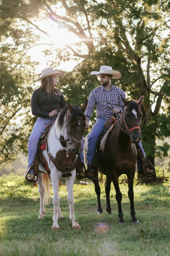
M 65 113 L 67 110 L 68 110 L 68 106 L 65 106 L 57 118 L 57 127 L 60 129 L 63 127 L 64 117 L 65 117 Z M 81 108 L 78 107 L 77 105 L 75 105 L 75 106 L 73 106 L 73 112 L 70 115 L 70 122 L 72 122 L 78 115 L 81 115 L 84 120 L 86 119 L 85 114 L 81 110 Z

